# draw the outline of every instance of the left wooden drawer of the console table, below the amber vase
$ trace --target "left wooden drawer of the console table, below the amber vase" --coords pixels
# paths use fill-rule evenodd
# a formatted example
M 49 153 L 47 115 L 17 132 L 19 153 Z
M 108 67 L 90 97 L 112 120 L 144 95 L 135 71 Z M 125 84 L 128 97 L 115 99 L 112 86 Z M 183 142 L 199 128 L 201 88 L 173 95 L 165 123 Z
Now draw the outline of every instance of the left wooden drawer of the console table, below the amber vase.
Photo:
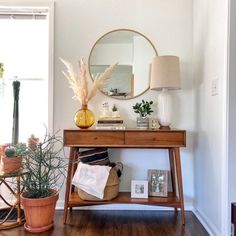
M 81 131 L 64 132 L 65 146 L 109 146 L 123 145 L 124 132 L 122 131 Z

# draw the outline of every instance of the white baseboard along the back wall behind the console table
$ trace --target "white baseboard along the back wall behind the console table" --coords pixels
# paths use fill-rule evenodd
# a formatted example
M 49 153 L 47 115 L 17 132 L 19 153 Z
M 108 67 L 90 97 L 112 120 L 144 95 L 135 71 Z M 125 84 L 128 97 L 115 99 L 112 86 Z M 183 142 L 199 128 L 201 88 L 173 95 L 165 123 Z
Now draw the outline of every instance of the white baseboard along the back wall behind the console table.
M 140 205 L 140 204 L 105 204 L 105 205 L 97 205 L 97 206 L 83 206 L 83 207 L 74 207 L 75 209 L 79 210 L 129 210 L 129 211 L 158 211 L 158 210 L 173 210 L 173 207 L 160 207 L 160 206 L 147 206 L 147 205 Z M 57 210 L 64 209 L 64 201 L 58 200 L 57 201 Z M 192 203 L 185 202 L 185 210 L 186 211 L 193 211 Z

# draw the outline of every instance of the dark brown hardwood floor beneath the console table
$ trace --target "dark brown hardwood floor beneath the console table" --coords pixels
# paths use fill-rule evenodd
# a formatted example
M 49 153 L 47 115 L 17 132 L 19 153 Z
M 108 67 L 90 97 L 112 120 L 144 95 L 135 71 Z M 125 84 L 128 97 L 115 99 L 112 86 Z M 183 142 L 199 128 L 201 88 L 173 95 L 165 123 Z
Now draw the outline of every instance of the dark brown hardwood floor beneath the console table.
M 192 212 L 186 211 L 186 225 L 181 225 L 180 212 L 173 211 L 78 211 L 68 214 L 62 223 L 63 211 L 56 211 L 53 230 L 31 234 L 18 227 L 1 230 L 1 236 L 207 236 L 209 235 Z

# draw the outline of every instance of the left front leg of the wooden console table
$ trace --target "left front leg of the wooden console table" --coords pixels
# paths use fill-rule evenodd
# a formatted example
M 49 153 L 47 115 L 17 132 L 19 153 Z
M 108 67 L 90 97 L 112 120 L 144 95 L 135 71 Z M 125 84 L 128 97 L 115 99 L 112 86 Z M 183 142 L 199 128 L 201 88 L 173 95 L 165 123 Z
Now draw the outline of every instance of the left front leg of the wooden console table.
M 64 215 L 63 215 L 63 223 L 66 223 L 67 213 L 68 213 L 68 202 L 71 194 L 71 181 L 73 175 L 73 165 L 76 156 L 76 148 L 70 148 L 70 156 L 69 156 L 69 164 L 68 164 L 68 172 L 67 172 L 67 180 L 66 180 L 66 192 L 65 192 L 65 203 L 64 203 Z

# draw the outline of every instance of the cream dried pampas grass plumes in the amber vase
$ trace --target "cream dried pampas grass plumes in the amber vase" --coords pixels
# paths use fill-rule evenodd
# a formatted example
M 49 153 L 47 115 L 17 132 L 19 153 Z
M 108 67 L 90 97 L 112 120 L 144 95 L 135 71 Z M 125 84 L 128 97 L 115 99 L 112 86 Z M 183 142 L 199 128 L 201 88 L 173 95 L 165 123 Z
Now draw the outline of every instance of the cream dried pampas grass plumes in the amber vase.
M 68 80 L 69 87 L 74 92 L 73 99 L 79 100 L 82 105 L 86 105 L 88 101 L 90 101 L 96 95 L 97 90 L 102 89 L 105 86 L 106 82 L 110 78 L 114 68 L 117 65 L 113 64 L 106 68 L 106 70 L 102 74 L 100 74 L 99 76 L 97 75 L 91 90 L 88 91 L 87 70 L 83 59 L 79 60 L 80 75 L 77 75 L 74 72 L 73 66 L 70 62 L 62 58 L 60 58 L 60 60 L 67 69 L 67 72 L 62 71 L 62 73 Z

